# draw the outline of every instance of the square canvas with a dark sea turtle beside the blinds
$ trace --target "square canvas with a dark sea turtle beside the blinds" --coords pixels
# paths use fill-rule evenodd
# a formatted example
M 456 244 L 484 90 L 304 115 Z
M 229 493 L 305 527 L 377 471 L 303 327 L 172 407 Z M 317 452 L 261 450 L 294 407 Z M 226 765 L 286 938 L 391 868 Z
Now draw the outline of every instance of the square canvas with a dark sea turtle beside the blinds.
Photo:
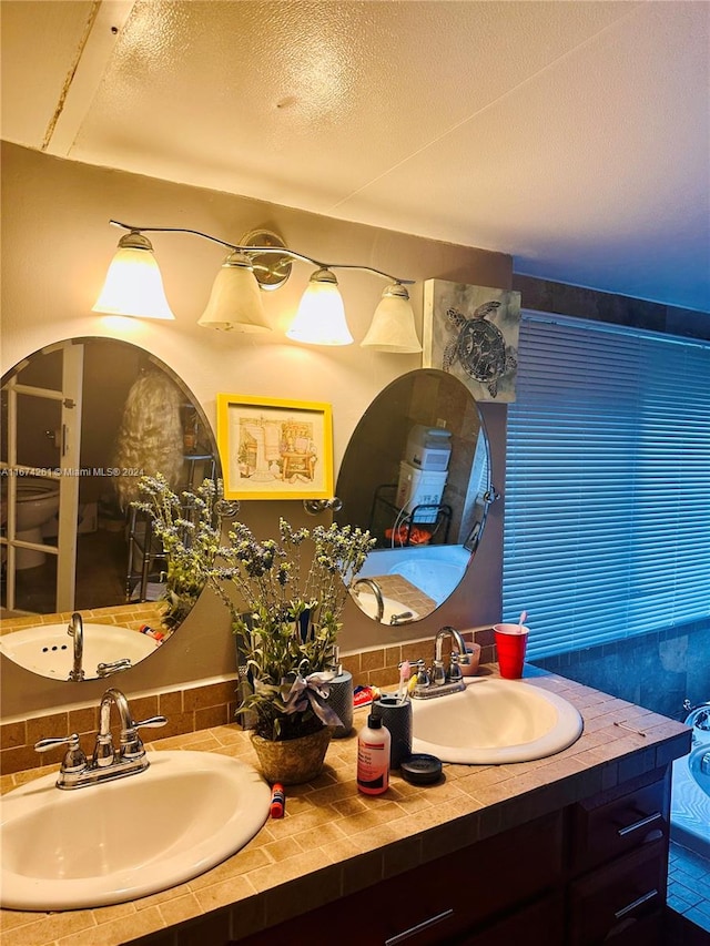
M 425 282 L 424 367 L 455 375 L 476 400 L 515 400 L 519 332 L 520 293 Z

